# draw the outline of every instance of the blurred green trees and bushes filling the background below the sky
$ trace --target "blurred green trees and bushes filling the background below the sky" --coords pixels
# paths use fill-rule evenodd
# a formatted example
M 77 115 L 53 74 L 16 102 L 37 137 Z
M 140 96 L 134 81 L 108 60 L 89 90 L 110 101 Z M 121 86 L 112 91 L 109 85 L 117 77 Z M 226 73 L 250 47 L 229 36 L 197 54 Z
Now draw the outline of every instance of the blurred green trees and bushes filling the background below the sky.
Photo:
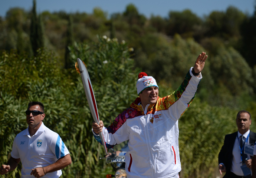
M 62 177 L 105 177 L 104 149 L 92 136 L 92 117 L 76 58 L 92 81 L 105 125 L 137 97 L 139 72 L 152 75 L 160 97 L 183 81 L 198 54 L 208 54 L 203 80 L 179 120 L 181 178 L 219 175 L 224 135 L 237 130 L 236 114 L 256 117 L 256 7 L 252 15 L 230 6 L 198 17 L 190 10 L 146 18 L 128 4 L 123 13 L 50 13 L 10 9 L 0 17 L 0 160 L 7 162 L 16 134 L 27 128 L 29 101 L 45 104 L 47 127 L 58 132 L 72 157 Z M 122 147 L 116 145 L 115 149 Z M 2 177 L 20 177 L 22 165 Z

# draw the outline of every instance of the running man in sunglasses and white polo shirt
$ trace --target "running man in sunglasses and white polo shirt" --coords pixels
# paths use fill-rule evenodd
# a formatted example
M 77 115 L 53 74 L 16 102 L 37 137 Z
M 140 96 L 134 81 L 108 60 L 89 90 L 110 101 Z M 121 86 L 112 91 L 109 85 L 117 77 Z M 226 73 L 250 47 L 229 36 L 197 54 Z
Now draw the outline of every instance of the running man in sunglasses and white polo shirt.
M 44 106 L 40 102 L 30 102 L 26 111 L 27 124 L 14 138 L 11 158 L 1 165 L 0 174 L 13 171 L 22 162 L 22 178 L 58 178 L 61 169 L 71 164 L 68 148 L 60 136 L 43 124 Z

